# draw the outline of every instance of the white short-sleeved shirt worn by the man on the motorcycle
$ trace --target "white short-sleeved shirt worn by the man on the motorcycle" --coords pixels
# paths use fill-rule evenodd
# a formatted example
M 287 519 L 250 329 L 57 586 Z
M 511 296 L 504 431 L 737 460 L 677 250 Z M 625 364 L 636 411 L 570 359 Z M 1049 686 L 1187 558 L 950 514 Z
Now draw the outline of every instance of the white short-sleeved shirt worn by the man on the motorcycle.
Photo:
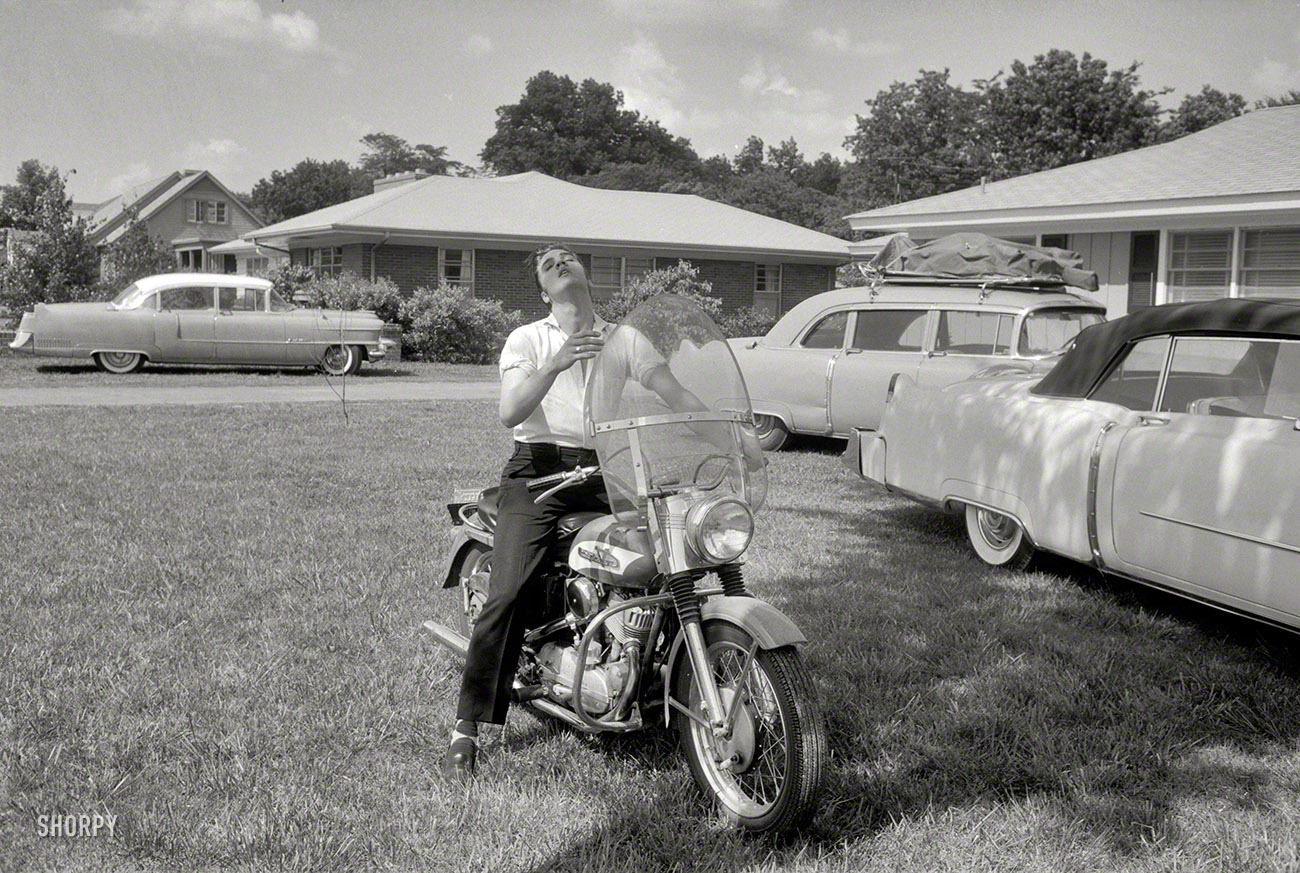
M 610 322 L 595 316 L 593 329 L 599 330 L 606 340 L 610 339 L 614 327 Z M 541 321 L 516 327 L 500 349 L 500 375 L 504 377 L 507 370 L 514 369 L 521 369 L 528 374 L 537 373 L 555 357 L 568 336 L 555 316 L 547 316 Z M 629 368 L 629 375 L 637 382 L 644 382 L 645 377 L 662 365 L 664 360 L 653 351 L 649 343 L 634 343 L 634 346 L 637 349 L 649 349 L 649 352 L 638 351 L 636 366 Z M 606 351 L 615 349 L 607 346 Z M 606 351 L 601 353 L 604 355 Z M 546 392 L 532 414 L 515 425 L 515 439 L 521 443 L 555 443 L 572 448 L 590 448 L 592 440 L 586 435 L 582 421 L 582 400 L 586 394 L 586 379 L 594 362 L 595 359 L 578 361 L 556 375 L 551 390 Z

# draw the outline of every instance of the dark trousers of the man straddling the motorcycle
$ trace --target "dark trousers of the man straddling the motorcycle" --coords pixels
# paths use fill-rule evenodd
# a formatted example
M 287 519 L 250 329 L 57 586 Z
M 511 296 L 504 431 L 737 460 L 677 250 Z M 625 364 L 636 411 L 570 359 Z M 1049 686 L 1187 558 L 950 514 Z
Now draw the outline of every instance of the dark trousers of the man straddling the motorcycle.
M 599 477 L 533 503 L 537 495 L 528 490 L 529 479 L 578 464 L 595 464 L 595 453 L 550 443 L 515 443 L 515 453 L 500 473 L 488 601 L 469 638 L 456 718 L 494 725 L 506 721 L 524 631 L 541 624 L 546 605 L 542 577 L 547 561 L 554 560 L 555 524 L 571 512 L 610 511 Z

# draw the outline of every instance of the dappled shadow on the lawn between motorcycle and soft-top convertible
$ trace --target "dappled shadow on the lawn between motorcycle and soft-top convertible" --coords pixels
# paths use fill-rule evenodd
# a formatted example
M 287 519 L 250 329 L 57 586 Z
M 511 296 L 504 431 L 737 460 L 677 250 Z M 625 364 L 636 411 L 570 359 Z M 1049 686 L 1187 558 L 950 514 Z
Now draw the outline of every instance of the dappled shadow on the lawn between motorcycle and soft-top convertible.
M 664 809 L 679 798 L 633 802 L 532 870 L 602 869 L 632 847 L 646 869 L 780 867 L 954 809 L 975 811 L 965 826 L 979 830 L 1013 807 L 1123 864 L 1195 842 L 1187 807 L 1257 809 L 1278 789 L 1260 761 L 1300 739 L 1295 635 L 1054 556 L 1028 573 L 985 568 L 959 520 L 923 507 L 793 512 L 852 546 L 762 585 L 789 595 L 783 609 L 811 640 L 831 750 L 812 825 L 784 844 L 740 838 L 710 830 L 701 800 L 698 829 L 679 812 L 673 831 Z M 685 768 L 668 737 L 618 748 Z M 710 841 L 731 850 L 682 848 Z

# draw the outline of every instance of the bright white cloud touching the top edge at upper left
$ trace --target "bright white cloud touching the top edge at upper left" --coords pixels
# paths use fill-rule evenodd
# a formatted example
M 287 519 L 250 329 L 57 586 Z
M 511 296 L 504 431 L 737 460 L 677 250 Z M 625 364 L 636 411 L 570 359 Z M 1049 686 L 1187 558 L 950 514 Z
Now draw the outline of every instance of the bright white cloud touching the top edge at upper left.
M 306 55 L 329 51 L 320 27 L 302 10 L 269 16 L 257 0 L 134 0 L 104 13 L 104 27 L 125 36 L 188 34 L 235 43 L 269 43 Z

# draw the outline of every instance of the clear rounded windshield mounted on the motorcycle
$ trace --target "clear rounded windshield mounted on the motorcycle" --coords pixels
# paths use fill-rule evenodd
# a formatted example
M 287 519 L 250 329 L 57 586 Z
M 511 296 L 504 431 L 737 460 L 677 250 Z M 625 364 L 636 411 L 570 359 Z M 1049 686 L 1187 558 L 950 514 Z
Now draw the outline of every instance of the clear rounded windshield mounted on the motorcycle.
M 586 422 L 615 512 L 686 490 L 733 494 L 754 511 L 767 496 L 740 366 L 685 297 L 651 297 L 614 330 L 586 385 Z

